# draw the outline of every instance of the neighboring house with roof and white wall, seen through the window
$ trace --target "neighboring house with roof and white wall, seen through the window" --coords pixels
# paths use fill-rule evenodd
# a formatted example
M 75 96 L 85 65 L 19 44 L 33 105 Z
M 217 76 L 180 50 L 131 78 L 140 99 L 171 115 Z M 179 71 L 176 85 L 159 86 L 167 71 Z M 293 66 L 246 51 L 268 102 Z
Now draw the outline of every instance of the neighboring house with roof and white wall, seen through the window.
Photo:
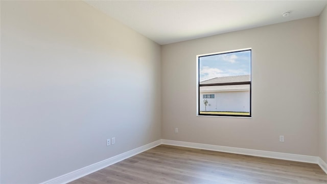
M 251 75 L 217 77 L 200 84 L 245 82 Z M 250 85 L 218 85 L 200 87 L 200 111 L 205 111 L 203 100 L 207 100 L 206 111 L 250 111 Z

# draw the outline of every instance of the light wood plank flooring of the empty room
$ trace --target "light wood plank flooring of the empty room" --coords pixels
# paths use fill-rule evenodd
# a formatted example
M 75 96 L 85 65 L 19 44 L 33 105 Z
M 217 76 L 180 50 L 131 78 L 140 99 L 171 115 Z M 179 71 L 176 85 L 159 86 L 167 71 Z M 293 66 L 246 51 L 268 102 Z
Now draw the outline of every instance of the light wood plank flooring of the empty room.
M 77 179 L 76 183 L 327 183 L 308 164 L 160 145 Z

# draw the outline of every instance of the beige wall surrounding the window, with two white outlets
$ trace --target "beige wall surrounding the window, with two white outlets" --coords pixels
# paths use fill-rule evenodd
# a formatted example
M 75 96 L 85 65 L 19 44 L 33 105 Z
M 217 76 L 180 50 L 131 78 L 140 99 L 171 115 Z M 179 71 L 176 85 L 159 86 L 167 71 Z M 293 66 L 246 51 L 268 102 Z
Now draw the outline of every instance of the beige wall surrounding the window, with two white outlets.
M 196 55 L 244 48 L 252 118 L 197 117 Z M 162 139 L 318 155 L 318 17 L 163 45 L 161 62 Z

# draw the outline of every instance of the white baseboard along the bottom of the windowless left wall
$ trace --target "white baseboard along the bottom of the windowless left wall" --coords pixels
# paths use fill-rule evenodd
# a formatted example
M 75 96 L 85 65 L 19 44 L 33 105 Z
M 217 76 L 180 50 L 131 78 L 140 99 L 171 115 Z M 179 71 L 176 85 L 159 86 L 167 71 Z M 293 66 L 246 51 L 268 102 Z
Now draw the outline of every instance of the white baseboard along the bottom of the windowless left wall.
M 56 178 L 50 179 L 48 181 L 44 181 L 41 184 L 59 184 L 59 183 L 67 183 L 67 182 L 71 182 L 74 181 L 78 178 L 81 178 L 83 176 L 86 176 L 90 173 L 96 172 L 100 169 L 103 169 L 105 167 L 108 167 L 110 165 L 113 165 L 115 163 L 118 163 L 126 158 L 129 158 L 131 156 L 134 156 L 138 153 L 142 153 L 148 149 L 151 149 L 153 147 L 159 146 L 161 144 L 161 140 L 149 143 L 147 145 L 132 149 L 130 151 L 127 151 L 125 153 L 110 157 L 108 159 L 102 160 L 98 163 L 86 166 L 84 168 L 78 169 L 76 171 L 58 176 Z

